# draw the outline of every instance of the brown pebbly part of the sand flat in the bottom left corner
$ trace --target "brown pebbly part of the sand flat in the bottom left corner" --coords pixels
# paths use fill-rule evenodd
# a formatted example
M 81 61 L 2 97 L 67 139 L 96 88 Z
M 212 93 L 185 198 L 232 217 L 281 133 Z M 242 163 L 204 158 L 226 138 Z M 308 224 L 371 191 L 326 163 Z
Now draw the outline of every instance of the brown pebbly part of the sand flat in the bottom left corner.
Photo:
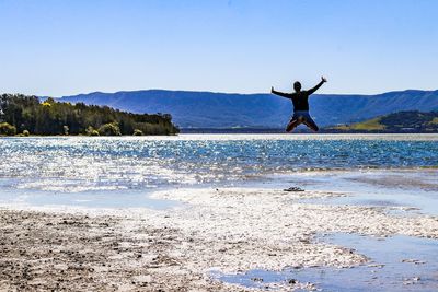
M 174 255 L 180 231 L 119 215 L 0 211 L 0 291 L 221 291 Z M 127 227 L 129 226 L 129 227 Z M 224 290 L 223 290 L 224 291 Z

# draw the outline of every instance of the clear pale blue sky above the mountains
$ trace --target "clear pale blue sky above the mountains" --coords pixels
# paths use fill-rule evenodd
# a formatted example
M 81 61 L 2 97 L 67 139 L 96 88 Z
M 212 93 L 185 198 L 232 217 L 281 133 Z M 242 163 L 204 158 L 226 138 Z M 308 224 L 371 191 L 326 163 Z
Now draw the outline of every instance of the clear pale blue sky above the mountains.
M 438 89 L 435 0 L 0 0 L 0 92 Z

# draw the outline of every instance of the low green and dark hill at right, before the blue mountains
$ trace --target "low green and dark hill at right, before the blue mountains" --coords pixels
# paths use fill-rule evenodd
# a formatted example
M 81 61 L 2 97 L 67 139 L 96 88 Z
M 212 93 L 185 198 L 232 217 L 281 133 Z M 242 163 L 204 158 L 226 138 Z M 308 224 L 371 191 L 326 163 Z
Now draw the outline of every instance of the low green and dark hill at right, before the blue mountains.
M 336 132 L 438 132 L 438 112 L 400 112 L 361 122 L 328 127 Z

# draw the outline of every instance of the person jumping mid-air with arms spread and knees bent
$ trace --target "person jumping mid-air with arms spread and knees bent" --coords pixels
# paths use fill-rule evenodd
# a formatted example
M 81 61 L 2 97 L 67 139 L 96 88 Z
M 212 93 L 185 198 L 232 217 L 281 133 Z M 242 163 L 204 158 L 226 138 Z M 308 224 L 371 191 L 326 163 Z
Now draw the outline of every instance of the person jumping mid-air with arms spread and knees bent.
M 304 124 L 313 131 L 319 131 L 316 124 L 309 114 L 309 95 L 318 91 L 318 89 L 321 87 L 321 85 L 325 82 L 327 82 L 327 80 L 324 77 L 321 77 L 321 82 L 318 83 L 316 86 L 308 91 L 301 91 L 301 83 L 299 81 L 296 81 L 293 83 L 293 93 L 283 93 L 275 91 L 274 87 L 270 87 L 270 93 L 292 101 L 293 116 L 286 127 L 287 132 L 292 131 L 300 124 Z

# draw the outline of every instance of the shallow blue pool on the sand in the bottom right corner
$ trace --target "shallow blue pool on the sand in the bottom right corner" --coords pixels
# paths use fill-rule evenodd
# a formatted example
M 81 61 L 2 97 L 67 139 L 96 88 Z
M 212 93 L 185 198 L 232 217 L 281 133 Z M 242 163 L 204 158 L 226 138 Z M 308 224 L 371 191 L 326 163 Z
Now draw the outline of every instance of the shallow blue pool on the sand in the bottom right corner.
M 286 268 L 283 271 L 250 270 L 238 275 L 216 273 L 215 277 L 224 282 L 262 289 L 268 283 L 287 283 L 293 279 L 301 283 L 314 283 L 318 291 L 438 291 L 436 240 L 402 235 L 378 238 L 335 233 L 324 241 L 354 248 L 356 253 L 367 255 L 370 260 L 350 269 Z

